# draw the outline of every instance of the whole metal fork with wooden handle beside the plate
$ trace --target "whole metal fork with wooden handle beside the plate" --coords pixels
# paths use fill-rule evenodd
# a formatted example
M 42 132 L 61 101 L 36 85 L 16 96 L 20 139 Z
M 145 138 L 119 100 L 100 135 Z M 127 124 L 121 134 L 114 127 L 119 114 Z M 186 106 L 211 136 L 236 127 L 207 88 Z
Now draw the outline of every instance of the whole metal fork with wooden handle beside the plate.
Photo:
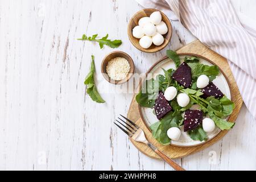
M 185 171 L 185 169 L 180 167 L 172 159 L 168 158 L 168 156 L 166 156 L 165 154 L 163 154 L 163 152 L 158 150 L 158 148 L 156 148 L 152 143 L 148 142 L 147 138 L 145 137 L 144 131 L 138 125 L 136 125 L 133 121 L 124 117 L 123 115 L 121 115 L 121 117 L 125 119 L 127 122 L 123 121 L 123 119 L 119 117 L 119 121 L 115 119 L 115 121 L 117 121 L 117 123 L 115 122 L 115 125 L 117 125 L 119 129 L 121 129 L 124 133 L 126 133 L 131 139 L 134 139 L 136 142 L 142 142 L 146 144 L 176 171 Z

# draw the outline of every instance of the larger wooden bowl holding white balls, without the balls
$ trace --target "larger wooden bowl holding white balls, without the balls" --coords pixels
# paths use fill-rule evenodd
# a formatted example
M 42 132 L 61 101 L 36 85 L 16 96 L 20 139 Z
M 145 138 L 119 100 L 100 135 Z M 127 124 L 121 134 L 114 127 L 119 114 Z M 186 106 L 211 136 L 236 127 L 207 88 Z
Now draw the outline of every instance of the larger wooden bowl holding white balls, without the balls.
M 139 19 L 141 19 L 141 18 L 143 18 L 145 16 L 149 17 L 155 11 L 159 11 L 159 10 L 156 10 L 156 9 L 144 9 L 144 10 L 138 11 L 130 19 L 130 22 L 128 24 L 128 36 L 129 36 L 130 42 L 133 44 L 134 47 L 136 47 L 140 51 L 149 52 L 149 53 L 161 51 L 164 47 L 166 47 L 168 45 L 168 43 L 171 40 L 171 37 L 172 37 L 172 24 L 171 24 L 170 20 L 168 19 L 168 17 L 162 11 L 159 11 L 159 12 L 162 15 L 162 21 L 164 23 L 166 23 L 166 25 L 168 27 L 168 32 L 167 32 L 166 35 L 163 35 L 164 36 L 164 43 L 161 46 L 155 46 L 154 44 L 152 44 L 149 48 L 144 49 L 144 48 L 142 48 L 139 45 L 139 39 L 134 38 L 134 36 L 133 36 L 133 28 L 135 26 L 138 26 Z

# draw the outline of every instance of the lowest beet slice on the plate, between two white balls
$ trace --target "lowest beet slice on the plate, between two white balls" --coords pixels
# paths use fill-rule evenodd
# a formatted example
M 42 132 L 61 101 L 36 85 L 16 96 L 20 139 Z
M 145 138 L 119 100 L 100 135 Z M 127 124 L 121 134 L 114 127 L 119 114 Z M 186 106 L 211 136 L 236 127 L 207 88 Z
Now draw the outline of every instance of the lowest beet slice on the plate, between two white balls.
M 184 132 L 196 129 L 203 122 L 201 110 L 186 110 L 184 114 Z

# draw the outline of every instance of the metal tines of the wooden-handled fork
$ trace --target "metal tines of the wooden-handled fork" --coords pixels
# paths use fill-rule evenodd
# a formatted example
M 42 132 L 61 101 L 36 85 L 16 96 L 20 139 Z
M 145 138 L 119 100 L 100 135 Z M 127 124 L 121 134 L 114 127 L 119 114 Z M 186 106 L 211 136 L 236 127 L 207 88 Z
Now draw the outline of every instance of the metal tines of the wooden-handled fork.
M 121 114 L 120 114 L 121 115 Z M 121 129 L 124 133 L 126 133 L 129 137 L 132 137 L 135 132 L 139 129 L 139 126 L 136 125 L 133 121 L 131 121 L 130 119 L 124 117 L 123 115 L 121 115 L 121 117 L 123 117 L 124 119 L 126 119 L 126 121 L 123 121 L 123 119 L 119 118 L 115 119 L 115 121 L 117 121 L 117 123 L 115 122 L 114 124 L 117 125 L 117 127 L 119 127 L 119 129 Z M 119 123 L 119 124 L 118 124 Z M 125 125 L 124 125 L 125 124 Z

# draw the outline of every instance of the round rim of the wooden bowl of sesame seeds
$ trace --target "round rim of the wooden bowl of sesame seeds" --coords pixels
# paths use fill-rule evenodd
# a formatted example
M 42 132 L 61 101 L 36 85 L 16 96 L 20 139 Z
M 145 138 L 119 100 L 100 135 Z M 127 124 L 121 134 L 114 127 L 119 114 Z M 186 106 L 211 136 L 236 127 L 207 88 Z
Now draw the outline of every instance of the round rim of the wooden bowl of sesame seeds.
M 107 61 L 108 57 L 110 55 L 116 55 L 116 54 L 120 54 L 120 55 L 125 55 L 127 56 L 129 59 L 127 59 L 127 61 L 129 62 L 130 64 L 130 71 L 129 71 L 129 75 L 124 78 L 123 80 L 113 80 L 112 78 L 110 78 L 108 76 L 108 73 L 106 73 L 104 70 L 104 63 L 105 61 Z M 123 56 L 117 56 L 117 57 L 123 57 Z M 125 57 L 123 57 L 125 58 Z M 110 60 L 108 60 L 109 62 Z M 128 55 L 126 52 L 123 52 L 123 51 L 113 51 L 113 52 L 110 52 L 108 53 L 108 55 L 106 55 L 104 57 L 104 59 L 102 60 L 102 63 L 101 63 L 101 73 L 102 73 L 102 76 L 105 78 L 106 81 L 110 82 L 110 84 L 115 84 L 115 85 L 121 85 L 121 84 L 124 84 L 125 82 L 129 81 L 130 78 L 132 77 L 132 75 L 134 74 L 134 70 L 135 70 L 135 65 L 134 65 L 134 61 L 133 59 L 131 58 L 130 55 Z

